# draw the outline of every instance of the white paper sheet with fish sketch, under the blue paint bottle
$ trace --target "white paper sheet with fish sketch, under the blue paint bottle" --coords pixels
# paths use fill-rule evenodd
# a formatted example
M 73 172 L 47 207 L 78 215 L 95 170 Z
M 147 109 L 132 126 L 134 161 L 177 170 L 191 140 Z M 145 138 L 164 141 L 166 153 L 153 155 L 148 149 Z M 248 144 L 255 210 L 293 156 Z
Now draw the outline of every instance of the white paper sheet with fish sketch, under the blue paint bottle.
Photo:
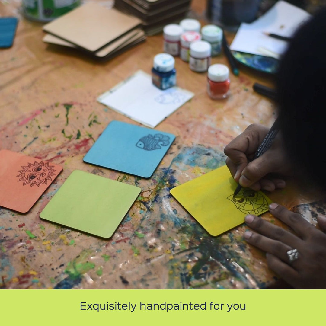
M 151 128 L 194 96 L 179 87 L 165 91 L 152 84 L 152 77 L 139 70 L 97 100 L 109 108 Z

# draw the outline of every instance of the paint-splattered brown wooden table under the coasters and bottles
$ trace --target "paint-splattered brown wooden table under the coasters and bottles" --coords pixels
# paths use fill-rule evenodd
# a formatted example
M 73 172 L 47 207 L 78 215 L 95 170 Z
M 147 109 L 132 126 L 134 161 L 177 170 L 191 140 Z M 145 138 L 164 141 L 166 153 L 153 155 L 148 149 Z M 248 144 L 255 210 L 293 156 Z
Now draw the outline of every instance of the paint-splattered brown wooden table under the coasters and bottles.
M 203 4 L 193 1 L 199 18 Z M 0 287 L 223 289 L 272 284 L 275 276 L 264 254 L 242 240 L 245 226 L 211 237 L 169 194 L 171 187 L 225 164 L 224 146 L 246 126 L 271 126 L 273 104 L 252 90 L 254 82 L 269 83 L 266 77 L 242 70 L 239 77 L 230 77 L 230 97 L 213 101 L 206 94 L 205 74 L 176 59 L 178 85 L 195 97 L 156 128 L 177 138 L 153 177 L 84 164 L 83 156 L 110 121 L 135 123 L 96 97 L 138 69 L 149 72 L 162 36 L 97 63 L 43 43 L 42 24 L 23 19 L 18 6 L 18 1 L 0 3 L 1 16 L 20 17 L 14 46 L 0 52 L 0 148 L 61 164 L 64 170 L 28 214 L 0 209 Z M 221 56 L 213 63 L 227 61 Z M 141 186 L 141 196 L 110 240 L 39 219 L 76 169 Z M 291 191 L 270 197 L 289 207 L 298 203 Z M 271 219 L 268 214 L 263 218 Z

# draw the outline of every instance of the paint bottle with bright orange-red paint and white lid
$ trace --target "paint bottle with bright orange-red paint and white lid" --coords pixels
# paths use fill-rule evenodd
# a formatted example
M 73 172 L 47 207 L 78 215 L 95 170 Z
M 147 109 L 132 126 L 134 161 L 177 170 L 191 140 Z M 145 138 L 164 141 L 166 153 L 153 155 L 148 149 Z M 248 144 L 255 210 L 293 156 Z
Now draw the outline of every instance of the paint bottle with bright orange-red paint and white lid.
M 227 66 L 215 64 L 208 68 L 207 93 L 213 100 L 223 99 L 229 95 L 230 70 Z

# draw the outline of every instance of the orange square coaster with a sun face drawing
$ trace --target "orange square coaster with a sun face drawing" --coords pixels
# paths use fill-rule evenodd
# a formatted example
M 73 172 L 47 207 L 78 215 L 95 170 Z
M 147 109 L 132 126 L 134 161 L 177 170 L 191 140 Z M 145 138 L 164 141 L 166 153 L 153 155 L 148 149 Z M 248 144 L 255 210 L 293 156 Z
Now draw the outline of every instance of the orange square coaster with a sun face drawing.
M 62 166 L 8 150 L 0 151 L 0 206 L 26 213 Z

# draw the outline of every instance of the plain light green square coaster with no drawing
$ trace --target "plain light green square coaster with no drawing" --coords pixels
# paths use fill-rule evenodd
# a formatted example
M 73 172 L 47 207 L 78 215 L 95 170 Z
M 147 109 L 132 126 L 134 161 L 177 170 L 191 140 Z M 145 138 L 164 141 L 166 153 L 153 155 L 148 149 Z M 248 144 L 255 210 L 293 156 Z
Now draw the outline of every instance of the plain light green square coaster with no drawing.
M 140 192 L 139 187 L 75 170 L 40 218 L 110 238 Z

